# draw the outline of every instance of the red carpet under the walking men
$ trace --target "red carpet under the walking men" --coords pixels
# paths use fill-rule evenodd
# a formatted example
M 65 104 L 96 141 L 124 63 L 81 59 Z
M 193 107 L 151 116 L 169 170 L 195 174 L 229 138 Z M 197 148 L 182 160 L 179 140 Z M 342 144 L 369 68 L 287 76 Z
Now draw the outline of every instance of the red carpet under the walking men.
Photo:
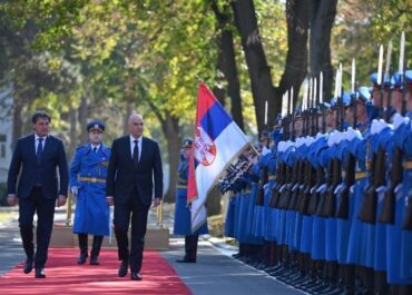
M 0 294 L 192 294 L 173 267 L 156 250 L 145 250 L 143 281 L 118 277 L 117 250 L 102 250 L 100 265 L 77 265 L 78 249 L 52 248 L 46 265 L 47 278 L 24 275 L 21 264 L 0 277 Z

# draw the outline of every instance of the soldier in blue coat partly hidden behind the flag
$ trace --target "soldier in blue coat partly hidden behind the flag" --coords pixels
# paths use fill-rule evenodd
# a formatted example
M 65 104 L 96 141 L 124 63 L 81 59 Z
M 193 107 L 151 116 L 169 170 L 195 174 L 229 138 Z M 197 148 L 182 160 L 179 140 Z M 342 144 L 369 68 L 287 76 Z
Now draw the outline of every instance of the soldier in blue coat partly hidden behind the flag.
M 187 203 L 187 178 L 192 145 L 193 140 L 190 138 L 184 139 L 180 150 L 182 161 L 177 171 L 174 234 L 185 236 L 185 256 L 183 259 L 177 259 L 178 263 L 196 263 L 198 237 L 208 233 L 207 223 L 192 233 L 190 205 Z

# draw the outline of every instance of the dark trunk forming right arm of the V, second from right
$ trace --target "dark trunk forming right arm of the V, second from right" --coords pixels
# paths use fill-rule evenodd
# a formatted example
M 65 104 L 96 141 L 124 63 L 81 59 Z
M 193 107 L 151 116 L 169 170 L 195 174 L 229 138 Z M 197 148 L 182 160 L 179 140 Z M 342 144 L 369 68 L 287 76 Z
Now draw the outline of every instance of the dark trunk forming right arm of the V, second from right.
M 293 87 L 293 101 L 296 106 L 298 91 L 307 72 L 307 1 L 288 0 L 286 2 L 287 56 L 285 71 L 276 89 L 276 110 L 282 107 L 282 95 Z M 287 104 L 287 101 L 284 101 Z

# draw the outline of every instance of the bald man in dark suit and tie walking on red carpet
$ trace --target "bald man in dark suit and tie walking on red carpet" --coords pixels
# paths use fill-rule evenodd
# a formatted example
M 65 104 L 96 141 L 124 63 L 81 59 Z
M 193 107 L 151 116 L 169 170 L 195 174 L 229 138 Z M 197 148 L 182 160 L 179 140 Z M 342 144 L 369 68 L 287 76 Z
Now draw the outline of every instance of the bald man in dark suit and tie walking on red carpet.
M 160 149 L 156 141 L 143 137 L 144 120 L 133 114 L 128 120 L 130 135 L 112 142 L 107 171 L 107 201 L 115 205 L 115 234 L 120 267 L 118 275 L 127 275 L 130 265 L 134 281 L 140 281 L 140 268 L 147 215 L 153 204 L 163 197 Z M 154 184 L 155 181 L 155 184 Z M 128 228 L 131 215 L 131 246 L 128 248 Z

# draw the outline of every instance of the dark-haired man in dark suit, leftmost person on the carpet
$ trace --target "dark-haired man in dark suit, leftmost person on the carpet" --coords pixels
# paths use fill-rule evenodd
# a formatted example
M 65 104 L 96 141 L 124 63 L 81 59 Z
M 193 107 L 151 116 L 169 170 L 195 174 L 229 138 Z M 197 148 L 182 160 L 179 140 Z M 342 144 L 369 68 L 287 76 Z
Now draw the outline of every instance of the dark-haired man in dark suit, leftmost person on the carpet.
M 53 226 L 56 199 L 58 206 L 66 204 L 68 168 L 62 141 L 49 135 L 50 116 L 45 111 L 36 111 L 31 121 L 35 134 L 18 139 L 10 163 L 8 203 L 10 206 L 19 204 L 20 234 L 27 255 L 23 272 L 30 273 L 35 263 L 35 276 L 45 278 L 43 268 Z M 35 255 L 36 212 L 38 222 Z

